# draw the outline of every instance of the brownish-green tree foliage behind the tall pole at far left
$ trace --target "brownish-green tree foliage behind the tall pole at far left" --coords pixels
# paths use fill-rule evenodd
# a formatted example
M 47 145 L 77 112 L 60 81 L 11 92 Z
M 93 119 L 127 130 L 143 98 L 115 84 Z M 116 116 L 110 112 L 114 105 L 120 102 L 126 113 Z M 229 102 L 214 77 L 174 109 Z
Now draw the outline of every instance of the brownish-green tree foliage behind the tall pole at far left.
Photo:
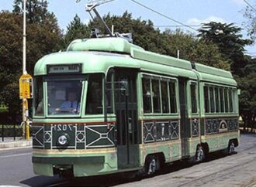
M 12 123 L 21 116 L 18 80 L 22 75 L 22 12 L 16 6 L 21 2 L 15 1 L 13 12 L 0 12 L 0 103 L 9 107 Z M 26 26 L 26 70 L 33 75 L 38 59 L 60 49 L 62 35 L 55 15 L 45 11 L 47 4 L 33 0 L 27 3 L 43 10 L 37 15 L 32 8 L 33 15 L 29 15 Z

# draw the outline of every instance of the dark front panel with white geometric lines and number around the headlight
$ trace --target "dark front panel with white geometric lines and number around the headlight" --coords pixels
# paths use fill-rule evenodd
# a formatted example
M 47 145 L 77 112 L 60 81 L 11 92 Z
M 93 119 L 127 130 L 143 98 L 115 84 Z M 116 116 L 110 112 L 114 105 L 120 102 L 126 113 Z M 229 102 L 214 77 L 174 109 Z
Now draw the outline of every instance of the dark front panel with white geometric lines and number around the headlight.
M 109 124 L 33 124 L 33 148 L 89 149 L 115 147 L 114 123 Z M 68 145 L 59 145 L 62 134 Z

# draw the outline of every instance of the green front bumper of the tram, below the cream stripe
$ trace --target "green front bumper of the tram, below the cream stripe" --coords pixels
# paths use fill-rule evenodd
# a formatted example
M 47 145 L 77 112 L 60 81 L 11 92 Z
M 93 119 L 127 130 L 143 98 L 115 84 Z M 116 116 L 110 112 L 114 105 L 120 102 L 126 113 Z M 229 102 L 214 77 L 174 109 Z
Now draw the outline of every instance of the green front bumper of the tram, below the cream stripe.
M 33 156 L 33 171 L 38 175 L 54 176 L 54 170 L 73 170 L 74 177 L 101 175 L 105 172 L 105 156 L 37 157 Z

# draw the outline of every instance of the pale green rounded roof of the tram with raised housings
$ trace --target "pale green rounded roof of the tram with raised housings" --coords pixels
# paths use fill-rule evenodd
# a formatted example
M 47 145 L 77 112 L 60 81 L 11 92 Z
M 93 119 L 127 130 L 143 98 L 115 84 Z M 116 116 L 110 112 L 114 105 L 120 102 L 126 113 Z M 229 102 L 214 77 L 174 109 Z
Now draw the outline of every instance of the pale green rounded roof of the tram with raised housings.
M 82 63 L 82 73 L 106 73 L 109 68 L 118 66 L 196 79 L 196 70 L 200 80 L 235 83 L 228 71 L 199 63 L 192 68 L 192 63 L 185 59 L 148 52 L 122 38 L 76 39 L 67 47 L 67 52 L 40 59 L 34 74 L 47 74 L 47 65 L 72 63 Z

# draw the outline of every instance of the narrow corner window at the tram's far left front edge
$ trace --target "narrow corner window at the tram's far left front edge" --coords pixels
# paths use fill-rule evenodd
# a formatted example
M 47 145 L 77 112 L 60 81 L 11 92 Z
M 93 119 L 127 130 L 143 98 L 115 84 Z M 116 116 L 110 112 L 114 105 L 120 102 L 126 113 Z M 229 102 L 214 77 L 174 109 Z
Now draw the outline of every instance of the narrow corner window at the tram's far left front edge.
M 43 77 L 35 79 L 35 115 L 42 116 L 43 111 Z

